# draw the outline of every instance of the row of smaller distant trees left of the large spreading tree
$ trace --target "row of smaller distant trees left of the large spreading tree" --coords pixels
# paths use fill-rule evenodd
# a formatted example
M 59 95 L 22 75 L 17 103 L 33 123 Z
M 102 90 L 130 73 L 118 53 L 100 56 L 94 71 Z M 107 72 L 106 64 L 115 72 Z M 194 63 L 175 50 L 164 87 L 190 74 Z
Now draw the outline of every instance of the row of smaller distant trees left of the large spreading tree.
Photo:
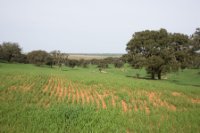
M 69 59 L 69 54 L 62 53 L 59 50 L 46 52 L 44 50 L 33 50 L 27 54 L 22 53 L 19 44 L 12 42 L 3 42 L 0 44 L 0 61 L 1 62 L 18 62 L 31 63 L 37 66 L 48 65 L 51 68 L 54 65 L 61 67 L 62 65 L 74 68 L 75 66 L 87 68 L 88 65 L 97 65 L 99 71 L 108 68 L 108 64 L 114 64 L 116 68 L 123 66 L 124 62 L 121 58 L 108 57 L 105 59 L 76 60 Z

